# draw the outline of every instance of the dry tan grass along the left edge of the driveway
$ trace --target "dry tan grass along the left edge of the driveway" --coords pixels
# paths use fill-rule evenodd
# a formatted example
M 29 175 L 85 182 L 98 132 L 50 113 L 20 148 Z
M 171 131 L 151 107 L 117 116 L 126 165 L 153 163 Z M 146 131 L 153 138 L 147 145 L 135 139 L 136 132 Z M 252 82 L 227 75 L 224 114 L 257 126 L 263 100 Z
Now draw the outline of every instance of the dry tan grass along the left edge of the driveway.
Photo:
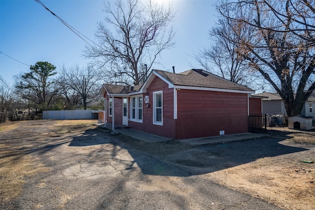
M 53 123 L 47 123 L 49 128 L 45 133 L 40 133 L 40 135 L 28 133 L 29 130 L 32 130 L 31 127 L 36 127 L 36 129 L 38 127 L 39 130 L 41 127 L 46 126 L 42 120 L 38 122 L 38 125 L 34 123 L 28 124 L 25 121 L 1 123 L 0 132 L 13 131 L 19 126 L 23 126 L 25 127 L 25 132 L 20 132 L 20 136 L 18 133 L 15 135 L 17 135 L 21 141 L 23 141 L 23 137 L 32 136 L 34 138 L 32 142 L 34 142 L 42 141 L 42 136 L 44 136 L 46 140 L 49 139 L 49 137 L 56 136 L 56 134 L 68 133 L 73 130 L 76 132 L 80 130 L 84 131 L 95 127 L 95 125 L 93 125 L 95 120 L 56 120 L 52 121 Z M 18 198 L 22 193 L 22 187 L 27 176 L 33 176 L 37 173 L 48 172 L 50 170 L 50 168 L 45 167 L 38 158 L 34 158 L 31 154 L 25 154 L 25 150 L 30 150 L 32 147 L 32 144 L 24 146 L 0 144 L 0 200 L 7 202 Z

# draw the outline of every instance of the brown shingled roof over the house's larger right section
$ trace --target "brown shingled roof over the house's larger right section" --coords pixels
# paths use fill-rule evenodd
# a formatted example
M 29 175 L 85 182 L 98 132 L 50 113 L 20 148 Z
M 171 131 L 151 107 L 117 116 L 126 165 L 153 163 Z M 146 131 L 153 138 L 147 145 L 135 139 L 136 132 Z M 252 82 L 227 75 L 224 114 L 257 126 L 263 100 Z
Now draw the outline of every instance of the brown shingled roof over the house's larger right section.
M 233 83 L 209 72 L 205 72 L 202 69 L 190 69 L 179 74 L 161 70 L 154 71 L 174 85 L 253 91 L 250 88 Z

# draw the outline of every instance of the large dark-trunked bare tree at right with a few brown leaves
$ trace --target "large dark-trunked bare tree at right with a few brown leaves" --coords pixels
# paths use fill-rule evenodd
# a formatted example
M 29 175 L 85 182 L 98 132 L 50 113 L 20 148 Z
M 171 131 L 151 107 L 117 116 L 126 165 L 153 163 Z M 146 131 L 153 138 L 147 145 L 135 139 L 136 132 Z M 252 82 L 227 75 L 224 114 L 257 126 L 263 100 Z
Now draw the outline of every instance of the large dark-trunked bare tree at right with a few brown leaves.
M 313 0 L 221 0 L 221 17 L 232 21 L 237 53 L 272 85 L 288 116 L 301 113 L 315 90 Z

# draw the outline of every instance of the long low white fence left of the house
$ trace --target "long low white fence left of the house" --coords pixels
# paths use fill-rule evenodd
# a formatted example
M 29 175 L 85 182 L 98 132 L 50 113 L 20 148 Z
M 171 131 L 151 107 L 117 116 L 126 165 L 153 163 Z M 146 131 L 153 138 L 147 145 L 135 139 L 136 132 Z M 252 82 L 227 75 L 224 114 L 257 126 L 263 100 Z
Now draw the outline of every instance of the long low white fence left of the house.
M 89 120 L 98 110 L 54 110 L 43 111 L 43 120 Z

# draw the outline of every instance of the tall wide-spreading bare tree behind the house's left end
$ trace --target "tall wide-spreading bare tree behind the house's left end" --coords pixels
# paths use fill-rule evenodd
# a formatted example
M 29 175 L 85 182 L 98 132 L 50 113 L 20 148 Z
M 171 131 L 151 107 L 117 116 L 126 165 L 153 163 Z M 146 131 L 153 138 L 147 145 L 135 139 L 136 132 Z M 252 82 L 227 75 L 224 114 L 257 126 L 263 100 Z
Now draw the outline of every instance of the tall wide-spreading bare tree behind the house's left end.
M 174 46 L 175 33 L 169 25 L 175 13 L 171 5 L 153 0 L 111 2 L 105 4 L 105 21 L 97 23 L 98 45 L 86 46 L 85 56 L 104 70 L 108 82 L 138 85 L 160 52 Z

